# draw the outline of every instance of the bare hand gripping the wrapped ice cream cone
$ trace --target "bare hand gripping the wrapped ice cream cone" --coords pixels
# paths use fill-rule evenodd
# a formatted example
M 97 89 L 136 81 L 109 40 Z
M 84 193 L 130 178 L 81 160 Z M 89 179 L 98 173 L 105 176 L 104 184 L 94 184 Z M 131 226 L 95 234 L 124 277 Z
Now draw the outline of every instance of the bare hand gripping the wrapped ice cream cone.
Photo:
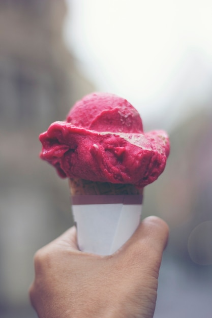
M 111 256 L 81 252 L 69 229 L 35 255 L 29 289 L 39 318 L 152 318 L 168 226 L 144 219 Z

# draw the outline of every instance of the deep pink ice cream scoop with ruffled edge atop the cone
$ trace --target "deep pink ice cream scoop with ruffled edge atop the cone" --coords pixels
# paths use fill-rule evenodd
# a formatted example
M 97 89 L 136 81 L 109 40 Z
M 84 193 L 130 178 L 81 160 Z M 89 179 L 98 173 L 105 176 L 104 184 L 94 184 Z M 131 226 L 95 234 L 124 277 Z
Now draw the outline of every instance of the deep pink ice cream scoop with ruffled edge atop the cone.
M 169 155 L 164 131 L 143 132 L 137 110 L 110 93 L 78 101 L 66 121 L 40 135 L 41 158 L 62 178 L 131 183 L 141 188 L 163 172 Z

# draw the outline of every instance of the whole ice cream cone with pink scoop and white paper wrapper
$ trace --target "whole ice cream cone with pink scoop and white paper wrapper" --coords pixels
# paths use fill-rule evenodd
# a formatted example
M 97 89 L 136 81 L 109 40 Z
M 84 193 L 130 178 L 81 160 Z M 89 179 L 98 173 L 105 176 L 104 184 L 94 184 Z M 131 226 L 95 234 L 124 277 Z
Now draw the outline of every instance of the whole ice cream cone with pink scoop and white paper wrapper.
M 126 99 L 95 92 L 77 101 L 66 120 L 53 122 L 39 138 L 41 158 L 60 177 L 71 178 L 79 248 L 113 253 L 139 224 L 138 188 L 164 171 L 168 135 L 162 130 L 145 133 L 138 111 Z

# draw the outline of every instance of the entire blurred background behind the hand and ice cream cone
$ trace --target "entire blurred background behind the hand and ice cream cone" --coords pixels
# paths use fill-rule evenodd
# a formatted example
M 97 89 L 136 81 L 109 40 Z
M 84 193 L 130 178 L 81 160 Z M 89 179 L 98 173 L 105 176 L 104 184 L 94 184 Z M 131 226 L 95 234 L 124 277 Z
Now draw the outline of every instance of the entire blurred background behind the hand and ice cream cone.
M 212 313 L 212 4 L 0 1 L 0 317 L 34 318 L 35 251 L 72 223 L 67 180 L 38 136 L 85 94 L 129 100 L 171 153 L 143 217 L 170 227 L 155 318 Z

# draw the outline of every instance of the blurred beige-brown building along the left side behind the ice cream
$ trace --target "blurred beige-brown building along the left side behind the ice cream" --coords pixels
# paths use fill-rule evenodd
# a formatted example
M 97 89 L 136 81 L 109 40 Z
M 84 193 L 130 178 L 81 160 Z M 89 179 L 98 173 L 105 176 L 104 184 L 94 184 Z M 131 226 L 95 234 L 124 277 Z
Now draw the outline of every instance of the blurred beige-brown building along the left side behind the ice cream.
M 64 43 L 66 11 L 64 0 L 0 2 L 1 317 L 24 316 L 35 250 L 72 224 L 67 182 L 38 140 L 94 90 Z

